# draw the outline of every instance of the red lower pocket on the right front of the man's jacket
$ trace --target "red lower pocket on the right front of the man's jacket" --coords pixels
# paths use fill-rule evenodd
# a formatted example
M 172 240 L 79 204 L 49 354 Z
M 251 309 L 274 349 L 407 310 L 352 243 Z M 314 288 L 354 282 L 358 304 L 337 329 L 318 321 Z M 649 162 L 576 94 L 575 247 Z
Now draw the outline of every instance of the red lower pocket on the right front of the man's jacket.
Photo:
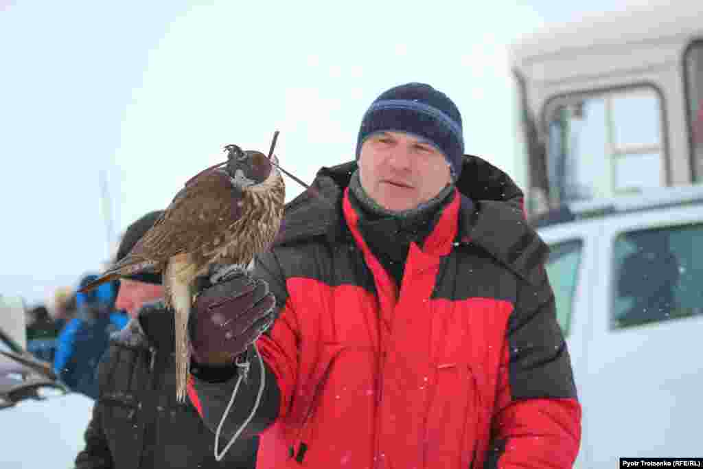
M 477 377 L 466 362 L 435 364 L 427 399 L 423 461 L 433 467 L 472 467 L 480 408 Z

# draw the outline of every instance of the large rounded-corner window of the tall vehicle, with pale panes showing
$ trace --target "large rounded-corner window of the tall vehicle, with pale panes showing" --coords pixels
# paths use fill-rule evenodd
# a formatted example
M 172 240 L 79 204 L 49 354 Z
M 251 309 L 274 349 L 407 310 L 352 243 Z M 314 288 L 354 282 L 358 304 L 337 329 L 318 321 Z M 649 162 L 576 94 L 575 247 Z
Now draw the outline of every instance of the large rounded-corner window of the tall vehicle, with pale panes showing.
M 666 185 L 662 103 L 652 86 L 567 96 L 548 109 L 550 200 Z

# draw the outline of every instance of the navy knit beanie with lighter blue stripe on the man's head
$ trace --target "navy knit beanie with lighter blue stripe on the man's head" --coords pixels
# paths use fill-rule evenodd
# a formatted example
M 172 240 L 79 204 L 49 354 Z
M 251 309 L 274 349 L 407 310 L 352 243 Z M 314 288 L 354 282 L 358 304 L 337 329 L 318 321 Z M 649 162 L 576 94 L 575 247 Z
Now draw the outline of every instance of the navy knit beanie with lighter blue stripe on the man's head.
M 363 141 L 378 131 L 424 137 L 444 153 L 454 181 L 459 179 L 464 154 L 461 114 L 446 94 L 428 84 L 408 83 L 378 96 L 363 115 L 356 140 L 357 159 Z

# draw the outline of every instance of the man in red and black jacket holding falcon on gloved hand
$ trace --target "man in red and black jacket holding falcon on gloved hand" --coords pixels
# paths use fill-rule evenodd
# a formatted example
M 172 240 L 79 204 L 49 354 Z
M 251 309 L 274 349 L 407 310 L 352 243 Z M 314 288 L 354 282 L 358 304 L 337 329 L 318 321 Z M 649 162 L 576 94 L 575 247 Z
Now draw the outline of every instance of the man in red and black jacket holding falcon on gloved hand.
M 356 161 L 287 205 L 252 274 L 198 296 L 191 399 L 213 430 L 226 413 L 223 442 L 260 435 L 257 467 L 574 463 L 581 407 L 548 247 L 510 178 L 463 151 L 446 95 L 386 91 Z

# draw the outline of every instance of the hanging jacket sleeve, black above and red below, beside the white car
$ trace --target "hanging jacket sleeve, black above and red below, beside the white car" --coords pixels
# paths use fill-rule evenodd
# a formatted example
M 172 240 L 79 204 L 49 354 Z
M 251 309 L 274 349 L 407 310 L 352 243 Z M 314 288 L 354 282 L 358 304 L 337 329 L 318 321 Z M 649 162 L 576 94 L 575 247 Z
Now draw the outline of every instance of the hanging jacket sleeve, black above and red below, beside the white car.
M 544 279 L 524 286 L 510 318 L 486 467 L 566 469 L 579 452 L 581 406 Z

